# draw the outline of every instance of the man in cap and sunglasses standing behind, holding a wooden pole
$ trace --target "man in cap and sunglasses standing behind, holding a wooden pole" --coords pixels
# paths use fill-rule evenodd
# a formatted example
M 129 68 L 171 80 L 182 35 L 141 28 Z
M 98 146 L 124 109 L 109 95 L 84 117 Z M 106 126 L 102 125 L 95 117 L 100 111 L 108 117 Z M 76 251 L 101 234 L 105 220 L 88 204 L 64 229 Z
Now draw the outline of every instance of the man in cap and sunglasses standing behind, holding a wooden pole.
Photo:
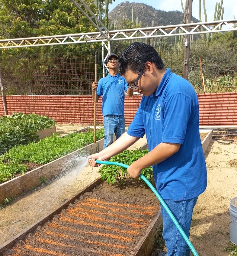
M 104 122 L 104 149 L 113 143 L 125 132 L 124 98 L 125 92 L 128 96 L 133 95 L 133 90 L 128 88 L 125 78 L 118 74 L 118 55 L 111 53 L 107 58 L 109 74 L 101 78 L 99 82 L 92 83 L 92 99 L 98 102 L 102 96 L 102 114 Z

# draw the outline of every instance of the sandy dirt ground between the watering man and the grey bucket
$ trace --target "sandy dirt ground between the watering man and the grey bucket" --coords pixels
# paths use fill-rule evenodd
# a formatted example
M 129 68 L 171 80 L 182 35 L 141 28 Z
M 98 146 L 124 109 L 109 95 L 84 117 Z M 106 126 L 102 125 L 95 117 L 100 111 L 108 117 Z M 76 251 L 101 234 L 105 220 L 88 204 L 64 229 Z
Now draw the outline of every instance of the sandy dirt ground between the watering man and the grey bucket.
M 230 139 L 230 138 L 226 138 Z M 207 189 L 194 208 L 191 242 L 199 256 L 227 256 L 230 199 L 237 196 L 237 141 L 212 140 L 206 153 Z M 237 248 L 237 247 L 236 247 Z M 237 254 L 235 254 L 237 255 Z

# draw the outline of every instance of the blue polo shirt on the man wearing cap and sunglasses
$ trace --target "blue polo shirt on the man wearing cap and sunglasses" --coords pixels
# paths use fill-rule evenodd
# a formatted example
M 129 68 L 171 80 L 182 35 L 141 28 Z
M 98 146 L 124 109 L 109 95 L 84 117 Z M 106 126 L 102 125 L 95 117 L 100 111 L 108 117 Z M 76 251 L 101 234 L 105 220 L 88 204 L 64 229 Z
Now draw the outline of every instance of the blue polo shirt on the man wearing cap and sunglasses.
M 115 76 L 108 74 L 101 78 L 97 86 L 97 95 L 102 96 L 102 114 L 124 115 L 124 97 L 128 83 L 118 73 Z

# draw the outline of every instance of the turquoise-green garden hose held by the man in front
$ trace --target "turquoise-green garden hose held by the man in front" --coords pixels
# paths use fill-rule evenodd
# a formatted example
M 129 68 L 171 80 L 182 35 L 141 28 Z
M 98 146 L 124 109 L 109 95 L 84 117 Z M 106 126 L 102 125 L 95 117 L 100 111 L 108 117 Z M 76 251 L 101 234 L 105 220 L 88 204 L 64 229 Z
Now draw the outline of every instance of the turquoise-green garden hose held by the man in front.
M 128 168 L 129 165 L 126 164 L 122 164 L 122 163 L 118 163 L 118 162 L 110 162 L 110 161 L 100 161 L 100 160 L 95 160 L 97 164 L 110 164 L 110 165 L 118 165 L 124 168 Z M 159 193 L 157 192 L 157 190 L 153 187 L 153 185 L 151 184 L 151 182 L 142 174 L 140 174 L 139 176 L 148 186 L 149 188 L 152 190 L 152 192 L 156 195 L 156 197 L 158 198 L 158 200 L 160 201 L 160 203 L 162 204 L 162 206 L 164 207 L 164 209 L 166 210 L 167 214 L 170 216 L 171 220 L 173 221 L 173 223 L 175 224 L 176 228 L 179 230 L 180 234 L 182 235 L 183 239 L 185 240 L 185 242 L 187 243 L 187 245 L 189 246 L 190 250 L 192 251 L 194 256 L 199 256 L 197 251 L 195 250 L 195 248 L 193 247 L 192 243 L 190 242 L 190 240 L 188 239 L 187 235 L 184 233 L 183 229 L 180 227 L 179 223 L 177 222 L 177 220 L 175 219 L 174 215 L 172 214 L 172 212 L 170 211 L 170 209 L 168 208 L 167 204 L 165 203 L 165 201 L 162 199 L 162 197 L 159 195 Z

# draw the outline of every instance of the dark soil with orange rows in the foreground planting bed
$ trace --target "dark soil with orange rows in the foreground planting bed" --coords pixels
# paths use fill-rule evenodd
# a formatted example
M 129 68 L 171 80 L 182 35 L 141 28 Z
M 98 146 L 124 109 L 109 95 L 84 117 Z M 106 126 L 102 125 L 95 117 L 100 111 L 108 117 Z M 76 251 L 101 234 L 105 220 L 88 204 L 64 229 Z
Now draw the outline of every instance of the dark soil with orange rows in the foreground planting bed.
M 4 255 L 129 256 L 158 210 L 156 196 L 138 179 L 122 186 L 102 182 Z

